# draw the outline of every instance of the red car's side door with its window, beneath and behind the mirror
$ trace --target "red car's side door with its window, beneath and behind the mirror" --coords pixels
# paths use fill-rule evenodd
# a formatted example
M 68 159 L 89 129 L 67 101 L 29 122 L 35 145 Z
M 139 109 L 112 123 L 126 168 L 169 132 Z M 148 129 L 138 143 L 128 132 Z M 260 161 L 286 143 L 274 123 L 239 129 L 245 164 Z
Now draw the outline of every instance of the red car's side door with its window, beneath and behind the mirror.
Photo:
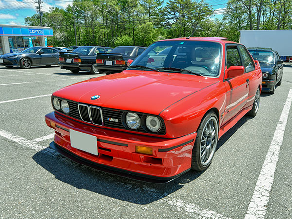
M 248 99 L 249 83 L 245 74 L 228 78 L 230 66 L 243 66 L 237 44 L 226 45 L 224 85 L 226 88 L 226 107 L 222 124 L 228 122 L 242 110 Z

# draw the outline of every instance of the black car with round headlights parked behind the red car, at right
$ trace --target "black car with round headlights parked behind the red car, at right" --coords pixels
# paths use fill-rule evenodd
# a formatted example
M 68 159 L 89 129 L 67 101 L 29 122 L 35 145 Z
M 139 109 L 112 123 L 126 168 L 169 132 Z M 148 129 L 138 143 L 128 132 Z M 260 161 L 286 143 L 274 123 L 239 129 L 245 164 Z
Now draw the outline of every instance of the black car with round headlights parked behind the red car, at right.
M 276 85 L 280 86 L 283 78 L 283 61 L 277 51 L 270 48 L 248 48 L 254 60 L 258 60 L 263 73 L 262 91 L 273 94 Z

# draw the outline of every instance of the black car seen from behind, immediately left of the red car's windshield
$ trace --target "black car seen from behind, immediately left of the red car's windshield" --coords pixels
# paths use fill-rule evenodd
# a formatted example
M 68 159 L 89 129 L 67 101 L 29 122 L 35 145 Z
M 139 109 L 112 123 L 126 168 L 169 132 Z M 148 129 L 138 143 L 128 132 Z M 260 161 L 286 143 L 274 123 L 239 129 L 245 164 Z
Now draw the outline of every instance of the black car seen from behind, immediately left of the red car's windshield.
M 142 46 L 118 46 L 110 53 L 99 53 L 96 56 L 96 68 L 99 72 L 113 74 L 122 72 L 127 68 L 127 61 L 135 59 L 146 47 Z

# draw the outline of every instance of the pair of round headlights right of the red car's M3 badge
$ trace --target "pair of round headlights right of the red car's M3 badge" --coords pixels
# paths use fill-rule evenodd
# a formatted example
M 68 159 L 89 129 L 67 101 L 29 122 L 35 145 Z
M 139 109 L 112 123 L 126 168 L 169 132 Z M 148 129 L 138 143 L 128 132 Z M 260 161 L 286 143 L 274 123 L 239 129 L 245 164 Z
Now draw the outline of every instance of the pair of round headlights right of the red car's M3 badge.
M 136 113 L 128 112 L 126 114 L 125 120 L 126 120 L 126 124 L 128 128 L 133 129 L 133 130 L 136 130 L 140 126 L 143 126 L 141 124 L 141 120 L 144 121 L 146 128 L 150 132 L 158 132 L 160 131 L 162 127 L 161 120 L 156 116 L 147 115 L 147 116 L 142 116 L 142 118 L 140 118 Z

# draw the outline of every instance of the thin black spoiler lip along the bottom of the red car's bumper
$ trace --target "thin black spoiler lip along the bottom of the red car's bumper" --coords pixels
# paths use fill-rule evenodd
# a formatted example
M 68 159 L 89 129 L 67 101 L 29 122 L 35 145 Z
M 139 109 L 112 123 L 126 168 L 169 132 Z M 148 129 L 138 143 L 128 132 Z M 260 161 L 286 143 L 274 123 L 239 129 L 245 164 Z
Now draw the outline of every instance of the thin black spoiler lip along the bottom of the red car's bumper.
M 132 172 L 132 171 L 128 171 L 128 170 L 123 170 L 123 169 L 119 169 L 119 168 L 115 168 L 115 167 L 111 167 L 111 166 L 98 164 L 98 163 L 89 161 L 85 158 L 79 157 L 79 156 L 73 154 L 72 152 L 64 149 L 63 147 L 59 146 L 55 142 L 51 142 L 50 147 L 52 149 L 54 149 L 56 152 L 64 155 L 65 157 L 71 159 L 72 161 L 74 161 L 78 164 L 82 164 L 82 165 L 91 167 L 93 169 L 96 169 L 96 170 L 99 170 L 102 172 L 107 172 L 110 174 L 118 175 L 121 177 L 126 177 L 126 178 L 129 178 L 132 180 L 143 181 L 143 182 L 147 182 L 147 183 L 168 183 L 168 182 L 178 178 L 179 176 L 183 175 L 184 173 L 186 173 L 190 170 L 190 169 L 187 169 L 187 170 L 183 171 L 182 173 L 179 173 L 179 174 L 172 176 L 172 177 L 157 177 L 157 176 L 151 176 L 151 175 L 146 175 L 146 174 L 142 174 L 142 173 L 136 173 L 136 172 Z

